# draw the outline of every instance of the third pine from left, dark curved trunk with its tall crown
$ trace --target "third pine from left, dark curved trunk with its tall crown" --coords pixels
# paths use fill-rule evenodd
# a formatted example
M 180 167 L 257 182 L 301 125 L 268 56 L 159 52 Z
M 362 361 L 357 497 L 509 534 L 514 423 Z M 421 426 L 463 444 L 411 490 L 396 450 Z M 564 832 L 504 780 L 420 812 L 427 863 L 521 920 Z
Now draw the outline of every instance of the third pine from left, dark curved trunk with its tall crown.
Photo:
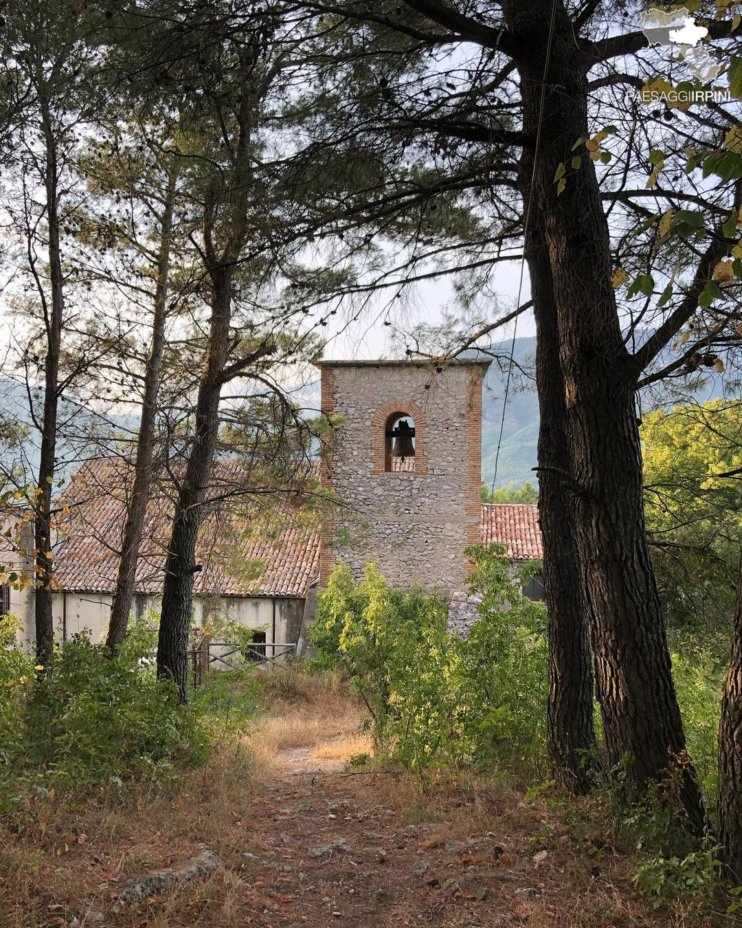
M 301 343 L 289 322 L 296 307 L 278 301 L 262 315 L 262 291 L 275 299 L 279 267 L 290 275 L 289 254 L 303 244 L 288 222 L 286 191 L 275 181 L 278 165 L 263 161 L 266 125 L 280 131 L 288 73 L 301 60 L 301 31 L 292 31 L 285 13 L 281 3 L 196 5 L 188 17 L 167 2 L 147 11 L 147 54 L 158 73 L 168 74 L 163 93 L 180 97 L 183 84 L 188 87 L 178 145 L 187 164 L 200 296 L 208 307 L 192 431 L 182 460 L 171 466 L 177 494 L 157 655 L 160 677 L 173 680 L 184 701 L 198 528 L 219 441 L 223 388 L 236 380 L 265 387 L 271 365 Z M 288 250 L 287 241 L 293 242 Z

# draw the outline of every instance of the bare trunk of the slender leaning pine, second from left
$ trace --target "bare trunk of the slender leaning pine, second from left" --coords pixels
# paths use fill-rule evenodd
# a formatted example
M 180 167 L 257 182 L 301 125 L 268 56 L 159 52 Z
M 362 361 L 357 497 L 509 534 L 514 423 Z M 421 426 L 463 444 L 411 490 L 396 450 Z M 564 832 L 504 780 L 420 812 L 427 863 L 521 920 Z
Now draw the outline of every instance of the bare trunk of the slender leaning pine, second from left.
M 142 418 L 136 443 L 134 460 L 134 486 L 122 533 L 122 556 L 111 604 L 109 632 L 106 645 L 111 654 L 121 647 L 129 622 L 129 612 L 134 598 L 136 564 L 142 543 L 147 500 L 152 485 L 152 460 L 155 449 L 155 423 L 157 419 L 157 397 L 160 391 L 160 368 L 165 348 L 165 320 L 167 317 L 168 275 L 170 273 L 171 234 L 173 230 L 173 202 L 175 199 L 176 168 L 173 165 L 168 179 L 167 195 L 160 226 L 160 253 L 157 263 L 157 285 L 155 289 L 154 315 L 152 319 L 152 342 L 145 370 Z

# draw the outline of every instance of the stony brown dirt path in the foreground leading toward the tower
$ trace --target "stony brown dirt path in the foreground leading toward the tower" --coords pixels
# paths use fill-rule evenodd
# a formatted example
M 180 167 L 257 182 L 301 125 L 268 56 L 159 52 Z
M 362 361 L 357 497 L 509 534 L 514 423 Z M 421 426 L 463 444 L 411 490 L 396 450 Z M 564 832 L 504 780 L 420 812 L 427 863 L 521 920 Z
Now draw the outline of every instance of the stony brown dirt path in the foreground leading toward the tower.
M 393 776 L 347 774 L 312 754 L 279 754 L 282 774 L 262 793 L 264 826 L 244 855 L 247 923 L 484 928 L 531 922 L 537 901 L 542 923 L 553 923 L 530 857 L 513 872 L 494 834 L 453 838 L 447 822 L 405 824 L 380 801 Z

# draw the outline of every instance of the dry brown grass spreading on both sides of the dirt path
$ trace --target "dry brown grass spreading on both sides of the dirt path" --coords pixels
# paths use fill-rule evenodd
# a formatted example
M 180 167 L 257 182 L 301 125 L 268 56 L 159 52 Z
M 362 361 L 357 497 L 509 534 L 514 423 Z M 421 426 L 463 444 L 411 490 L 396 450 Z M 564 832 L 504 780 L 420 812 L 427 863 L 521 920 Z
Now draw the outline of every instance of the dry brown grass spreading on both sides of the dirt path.
M 0 925 L 66 925 L 71 916 L 81 916 L 85 900 L 95 899 L 105 908 L 110 893 L 123 880 L 182 863 L 198 852 L 202 842 L 223 861 L 210 880 L 181 887 L 138 909 L 119 912 L 109 906 L 105 924 L 221 928 L 264 923 L 260 913 L 276 909 L 275 874 L 262 869 L 262 857 L 257 870 L 253 866 L 250 871 L 243 854 L 264 854 L 275 846 L 263 843 L 266 833 L 280 841 L 280 833 L 294 827 L 265 814 L 266 799 L 269 806 L 280 808 L 285 802 L 282 791 L 296 797 L 295 781 L 288 784 L 280 779 L 280 752 L 309 745 L 317 758 L 347 761 L 354 754 L 370 753 L 370 748 L 358 734 L 364 711 L 341 677 L 289 670 L 262 675 L 260 680 L 255 723 L 249 723 L 242 736 L 225 736 L 208 765 L 186 774 L 179 784 L 158 791 L 129 783 L 120 789 L 80 793 L 67 805 L 40 797 L 28 827 L 0 828 Z M 352 799 L 349 808 L 355 803 L 359 810 L 372 810 L 371 814 L 374 808 L 391 806 L 389 818 L 382 815 L 372 825 L 367 823 L 368 812 L 357 822 L 350 815 L 339 817 L 346 822 L 341 827 L 350 830 L 353 846 L 360 846 L 365 830 L 382 828 L 395 834 L 416 830 L 413 844 L 405 845 L 404 851 L 395 849 L 402 846 L 397 839 L 385 845 L 400 856 L 403 866 L 368 878 L 377 880 L 380 889 L 392 878 L 400 881 L 400 887 L 406 885 L 404 881 L 409 883 L 415 855 L 438 861 L 439 873 L 441 868 L 454 868 L 443 870 L 443 876 L 460 872 L 476 883 L 486 880 L 488 873 L 506 872 L 518 880 L 497 883 L 495 875 L 490 900 L 479 909 L 466 896 L 451 900 L 418 881 L 417 896 L 407 897 L 406 890 L 400 889 L 411 924 L 417 923 L 423 910 L 419 887 L 428 894 L 425 905 L 449 907 L 445 909 L 449 921 L 441 923 L 452 926 L 500 924 L 497 912 L 503 910 L 513 923 L 544 928 L 555 924 L 706 928 L 735 923 L 725 914 L 729 900 L 723 890 L 705 906 L 688 894 L 652 910 L 631 882 L 640 859 L 635 837 L 617 826 L 612 818 L 615 809 L 600 795 L 574 799 L 551 787 L 528 793 L 505 775 L 483 778 L 465 771 L 431 772 L 428 793 L 422 794 L 416 777 L 373 769 L 305 789 L 315 804 L 345 797 Z M 334 796 L 333 790 L 339 795 Z M 323 814 L 319 821 L 324 820 Z M 487 834 L 493 838 L 486 846 L 500 845 L 504 856 L 495 860 L 476 848 L 453 857 L 446 851 L 446 842 Z M 288 848 L 295 846 L 296 840 Z M 546 856 L 534 863 L 540 851 Z M 315 876 L 321 877 L 319 870 Z M 289 893 L 292 879 L 288 877 Z M 515 896 L 513 887 L 521 884 L 538 885 L 543 894 Z M 307 899 L 304 904 L 310 908 L 303 911 L 311 916 L 311 896 Z M 454 901 L 460 911 L 451 908 Z M 326 922 L 313 922 L 310 917 L 301 923 Z

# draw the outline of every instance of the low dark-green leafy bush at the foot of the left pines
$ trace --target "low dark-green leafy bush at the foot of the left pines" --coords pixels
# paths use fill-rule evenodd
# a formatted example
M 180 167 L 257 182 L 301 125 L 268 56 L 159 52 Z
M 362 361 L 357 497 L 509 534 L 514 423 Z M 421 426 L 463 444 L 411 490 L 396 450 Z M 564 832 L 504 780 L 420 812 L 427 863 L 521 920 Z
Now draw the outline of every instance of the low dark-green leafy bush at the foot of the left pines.
M 0 648 L 0 809 L 28 793 L 161 782 L 209 753 L 208 727 L 175 688 L 156 678 L 134 625 L 119 657 L 75 636 L 45 676 L 13 647 Z

